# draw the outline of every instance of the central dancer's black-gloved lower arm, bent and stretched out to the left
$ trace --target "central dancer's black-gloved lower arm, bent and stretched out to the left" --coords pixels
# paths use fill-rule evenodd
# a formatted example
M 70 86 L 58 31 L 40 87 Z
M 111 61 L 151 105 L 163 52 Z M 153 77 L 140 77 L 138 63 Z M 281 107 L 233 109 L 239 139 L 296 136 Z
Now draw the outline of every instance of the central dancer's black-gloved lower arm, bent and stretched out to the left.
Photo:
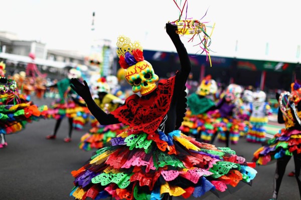
M 78 95 L 80 95 L 85 100 L 88 109 L 100 124 L 107 125 L 107 124 L 120 123 L 118 119 L 114 117 L 113 114 L 105 113 L 95 103 L 90 93 L 89 86 L 85 80 L 84 80 L 84 84 L 82 84 L 77 78 L 71 78 L 71 83 L 72 84 L 70 86 L 78 93 Z

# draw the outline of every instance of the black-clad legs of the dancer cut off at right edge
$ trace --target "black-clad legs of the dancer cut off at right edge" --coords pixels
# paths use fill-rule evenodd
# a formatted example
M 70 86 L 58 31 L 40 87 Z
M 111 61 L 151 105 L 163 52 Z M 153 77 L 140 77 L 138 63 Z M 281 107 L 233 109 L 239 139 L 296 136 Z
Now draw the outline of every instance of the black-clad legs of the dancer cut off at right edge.
M 301 181 L 300 181 L 300 169 L 301 169 L 301 153 L 297 154 L 296 151 L 293 151 L 293 161 L 295 165 L 295 177 L 298 183 L 299 194 L 301 198 Z M 276 171 L 274 176 L 274 191 L 273 191 L 273 198 L 277 198 L 278 191 L 280 188 L 281 180 L 285 172 L 286 165 L 289 161 L 291 156 L 285 155 L 276 162 Z

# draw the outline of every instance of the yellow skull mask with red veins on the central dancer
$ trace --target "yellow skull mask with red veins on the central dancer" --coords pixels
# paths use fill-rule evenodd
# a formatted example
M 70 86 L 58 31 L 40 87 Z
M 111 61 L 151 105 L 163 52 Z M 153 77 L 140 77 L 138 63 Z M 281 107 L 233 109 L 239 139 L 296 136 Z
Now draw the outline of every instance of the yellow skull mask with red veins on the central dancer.
M 155 74 L 152 64 L 143 60 L 126 69 L 125 79 L 132 86 L 134 93 L 140 91 L 142 95 L 146 95 L 156 89 L 159 77 Z

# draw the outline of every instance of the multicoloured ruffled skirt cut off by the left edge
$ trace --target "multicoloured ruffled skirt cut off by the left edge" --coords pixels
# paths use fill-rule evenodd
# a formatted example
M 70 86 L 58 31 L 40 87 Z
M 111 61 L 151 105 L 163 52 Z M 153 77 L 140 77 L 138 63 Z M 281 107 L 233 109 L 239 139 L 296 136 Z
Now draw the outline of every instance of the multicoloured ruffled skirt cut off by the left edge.
M 46 118 L 47 105 L 38 107 L 32 102 L 16 105 L 0 105 L 0 133 L 12 134 L 26 127 L 26 124 Z

